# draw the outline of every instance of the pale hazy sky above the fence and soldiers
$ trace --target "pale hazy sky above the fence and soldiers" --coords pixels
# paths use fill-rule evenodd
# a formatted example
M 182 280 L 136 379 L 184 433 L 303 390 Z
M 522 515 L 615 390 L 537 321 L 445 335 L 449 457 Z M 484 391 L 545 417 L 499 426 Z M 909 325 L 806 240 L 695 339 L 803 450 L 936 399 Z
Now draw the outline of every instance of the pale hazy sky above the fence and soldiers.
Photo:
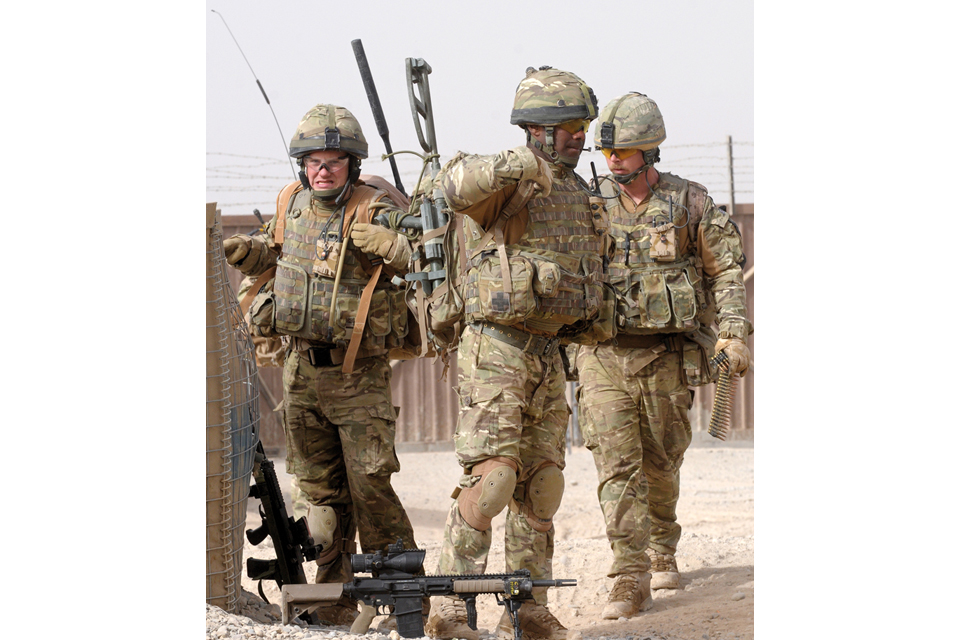
M 522 144 L 523 133 L 509 124 L 514 92 L 528 66 L 546 64 L 583 78 L 601 108 L 628 91 L 653 98 L 667 129 L 660 167 L 704 183 L 719 202 L 729 200 L 726 140 L 732 136 L 737 201 L 753 202 L 752 2 L 358 0 L 349 13 L 346 6 L 208 0 L 207 199 L 224 214 L 255 206 L 273 211 L 276 192 L 293 179 L 286 142 L 318 102 L 354 113 L 370 144 L 364 171 L 392 181 L 380 160 L 384 145 L 354 39 L 363 42 L 394 151 L 421 150 L 406 58 L 423 58 L 433 70 L 441 161 L 458 150 L 496 153 Z M 592 136 L 593 128 L 591 146 Z M 606 170 L 599 152 L 585 153 L 581 175 L 589 176 L 590 160 Z M 419 160 L 402 155 L 398 163 L 409 186 Z

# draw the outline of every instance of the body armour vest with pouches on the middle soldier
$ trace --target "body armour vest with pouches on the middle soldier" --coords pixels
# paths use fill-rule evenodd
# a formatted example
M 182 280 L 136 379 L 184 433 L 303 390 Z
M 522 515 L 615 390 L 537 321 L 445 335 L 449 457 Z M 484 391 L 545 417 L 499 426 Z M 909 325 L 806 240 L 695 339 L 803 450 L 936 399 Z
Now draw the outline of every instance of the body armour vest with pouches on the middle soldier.
M 603 298 L 603 242 L 587 192 L 572 171 L 562 171 L 554 176 L 549 196 L 533 198 L 526 206 L 526 230 L 506 247 L 509 269 L 501 270 L 493 242 L 477 246 L 483 231 L 465 219 L 467 321 L 550 335 L 562 334 L 566 325 L 589 325 Z M 512 291 L 504 289 L 504 272 Z

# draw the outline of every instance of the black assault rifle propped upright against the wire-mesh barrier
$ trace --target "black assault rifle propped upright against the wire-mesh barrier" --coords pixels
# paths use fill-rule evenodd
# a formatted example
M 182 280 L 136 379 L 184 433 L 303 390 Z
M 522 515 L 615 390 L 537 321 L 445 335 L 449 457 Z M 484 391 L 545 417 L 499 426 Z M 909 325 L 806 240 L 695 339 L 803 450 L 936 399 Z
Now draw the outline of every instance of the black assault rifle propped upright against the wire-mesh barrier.
M 303 563 L 305 560 L 316 560 L 323 546 L 313 544 L 306 518 L 294 521 L 293 517 L 287 515 L 277 472 L 273 462 L 264 453 L 262 442 L 257 442 L 253 478 L 250 497 L 260 500 L 261 524 L 256 529 L 247 529 L 247 540 L 257 546 L 269 535 L 277 557 L 274 560 L 247 558 L 247 577 L 258 581 L 260 597 L 264 602 L 269 602 L 263 593 L 263 580 L 275 580 L 280 589 L 287 585 L 306 584 Z M 305 621 L 313 623 L 312 618 Z

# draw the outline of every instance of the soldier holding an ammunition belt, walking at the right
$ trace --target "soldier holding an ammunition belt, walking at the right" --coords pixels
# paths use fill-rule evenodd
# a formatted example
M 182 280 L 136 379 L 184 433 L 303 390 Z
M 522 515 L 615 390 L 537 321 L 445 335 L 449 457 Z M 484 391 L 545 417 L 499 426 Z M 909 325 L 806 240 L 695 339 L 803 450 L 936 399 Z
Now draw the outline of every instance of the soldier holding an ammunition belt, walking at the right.
M 573 346 L 570 359 L 613 549 L 605 619 L 649 609 L 651 588 L 679 586 L 688 387 L 711 381 L 715 352 L 725 351 L 741 375 L 750 365 L 740 232 L 702 185 L 654 168 L 664 139 L 659 108 L 640 93 L 612 100 L 594 130 L 612 173 L 601 178 L 601 192 L 616 242 L 608 265 L 616 337 Z

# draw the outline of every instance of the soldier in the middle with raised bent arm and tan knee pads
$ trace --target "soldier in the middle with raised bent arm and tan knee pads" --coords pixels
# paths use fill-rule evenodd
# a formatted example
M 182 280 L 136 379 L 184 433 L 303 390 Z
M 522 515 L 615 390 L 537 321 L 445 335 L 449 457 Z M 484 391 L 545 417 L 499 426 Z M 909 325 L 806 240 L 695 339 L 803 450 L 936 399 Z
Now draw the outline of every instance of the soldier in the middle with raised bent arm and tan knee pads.
M 508 507 L 506 570 L 552 577 L 569 416 L 560 340 L 590 326 L 602 297 L 603 238 L 573 171 L 596 113 L 583 80 L 529 68 L 510 117 L 526 131 L 526 145 L 492 156 L 458 153 L 437 176 L 464 226 L 468 323 L 457 355 L 454 436 L 463 476 L 439 574 L 483 573 L 491 520 Z M 546 590 L 537 591 L 535 603 L 518 613 L 524 637 L 578 637 L 547 609 Z M 513 638 L 506 612 L 498 627 L 501 637 Z M 456 598 L 434 607 L 426 630 L 437 638 L 478 638 Z

